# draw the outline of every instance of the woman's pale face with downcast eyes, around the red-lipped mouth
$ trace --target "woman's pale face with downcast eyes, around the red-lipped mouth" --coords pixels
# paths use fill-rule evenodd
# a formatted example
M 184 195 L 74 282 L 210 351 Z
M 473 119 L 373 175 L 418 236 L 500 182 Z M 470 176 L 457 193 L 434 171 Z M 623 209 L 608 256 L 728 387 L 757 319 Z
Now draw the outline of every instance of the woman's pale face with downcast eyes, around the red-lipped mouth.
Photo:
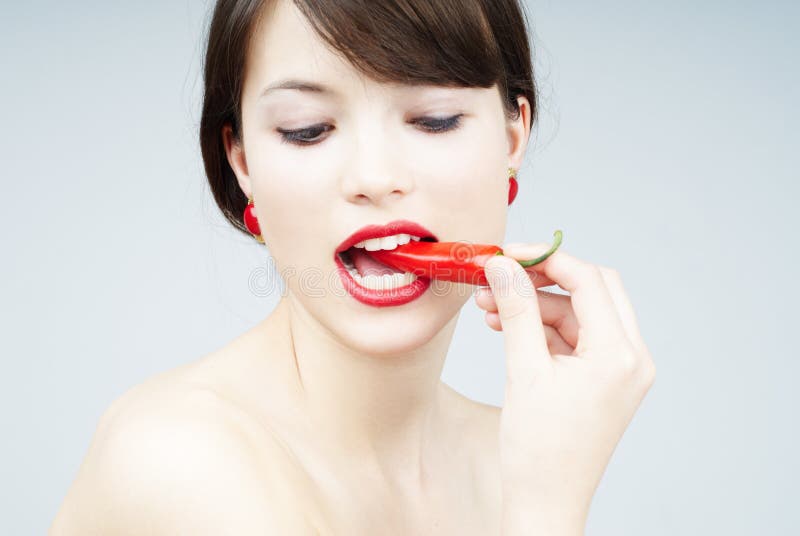
M 507 121 L 496 87 L 374 82 L 328 49 L 291 2 L 265 15 L 244 81 L 243 144 L 226 133 L 226 147 L 289 298 L 355 350 L 419 347 L 474 287 L 434 280 L 413 301 L 377 307 L 345 290 L 334 252 L 365 225 L 393 220 L 442 242 L 501 244 L 507 168 L 522 159 L 529 113 Z M 265 91 L 287 80 L 323 89 Z M 524 97 L 520 104 L 529 110 Z

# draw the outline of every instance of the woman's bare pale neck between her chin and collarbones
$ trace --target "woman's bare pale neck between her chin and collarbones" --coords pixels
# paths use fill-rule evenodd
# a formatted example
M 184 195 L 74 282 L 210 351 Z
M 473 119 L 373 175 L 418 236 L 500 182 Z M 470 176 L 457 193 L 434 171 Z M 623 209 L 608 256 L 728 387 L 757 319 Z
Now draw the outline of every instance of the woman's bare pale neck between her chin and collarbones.
M 291 347 L 284 355 L 316 441 L 337 459 L 415 483 L 446 433 L 453 392 L 440 377 L 457 320 L 421 347 L 374 356 L 343 345 L 291 294 L 268 319 Z

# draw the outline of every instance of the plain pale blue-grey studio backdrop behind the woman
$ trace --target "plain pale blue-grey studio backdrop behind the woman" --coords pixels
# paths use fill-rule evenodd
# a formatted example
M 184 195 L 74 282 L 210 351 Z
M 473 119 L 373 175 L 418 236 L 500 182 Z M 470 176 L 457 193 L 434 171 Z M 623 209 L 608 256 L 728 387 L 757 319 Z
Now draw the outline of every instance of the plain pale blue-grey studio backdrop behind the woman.
M 211 2 L 3 2 L 0 533 L 44 534 L 101 413 L 262 319 L 212 202 Z M 735 5 L 734 5 L 735 4 Z M 658 368 L 587 534 L 797 534 L 800 4 L 528 2 L 541 124 L 507 242 L 618 269 Z M 500 406 L 472 301 L 445 382 Z

